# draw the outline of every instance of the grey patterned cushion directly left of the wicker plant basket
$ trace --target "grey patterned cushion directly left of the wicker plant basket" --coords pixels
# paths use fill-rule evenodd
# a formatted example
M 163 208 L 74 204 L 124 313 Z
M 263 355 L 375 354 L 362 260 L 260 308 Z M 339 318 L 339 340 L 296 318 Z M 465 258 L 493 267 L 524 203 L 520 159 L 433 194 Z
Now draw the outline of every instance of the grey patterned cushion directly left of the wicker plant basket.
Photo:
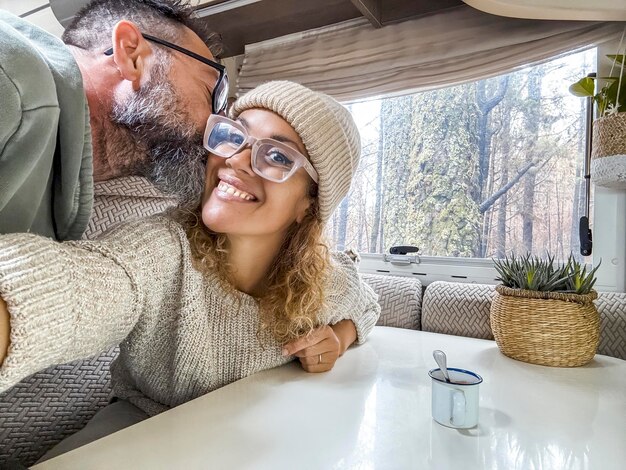
M 426 288 L 422 330 L 493 339 L 489 309 L 495 286 L 435 281 Z

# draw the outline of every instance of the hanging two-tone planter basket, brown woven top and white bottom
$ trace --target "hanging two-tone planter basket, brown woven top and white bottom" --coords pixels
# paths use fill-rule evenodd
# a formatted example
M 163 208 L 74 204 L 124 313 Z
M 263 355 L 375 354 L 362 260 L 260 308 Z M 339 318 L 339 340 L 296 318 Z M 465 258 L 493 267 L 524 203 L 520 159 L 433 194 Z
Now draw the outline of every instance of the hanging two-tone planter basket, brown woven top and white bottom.
M 593 123 L 591 180 L 598 186 L 626 189 L 626 112 Z

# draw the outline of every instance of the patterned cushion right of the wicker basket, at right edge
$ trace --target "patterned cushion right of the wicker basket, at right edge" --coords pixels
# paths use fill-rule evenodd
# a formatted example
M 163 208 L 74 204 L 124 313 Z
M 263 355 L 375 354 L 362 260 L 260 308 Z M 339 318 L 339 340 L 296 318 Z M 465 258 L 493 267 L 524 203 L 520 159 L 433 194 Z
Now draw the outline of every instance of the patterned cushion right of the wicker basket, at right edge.
M 626 359 L 626 294 L 600 292 L 595 302 L 600 312 L 598 354 Z

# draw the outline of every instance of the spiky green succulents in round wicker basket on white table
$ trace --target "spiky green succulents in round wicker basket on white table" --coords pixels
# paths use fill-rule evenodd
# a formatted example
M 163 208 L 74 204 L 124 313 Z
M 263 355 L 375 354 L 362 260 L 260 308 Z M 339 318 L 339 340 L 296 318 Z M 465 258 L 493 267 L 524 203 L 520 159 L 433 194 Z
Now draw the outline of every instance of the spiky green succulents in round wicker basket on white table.
M 491 329 L 503 354 L 533 364 L 575 367 L 587 364 L 600 339 L 600 317 L 593 303 L 595 273 L 572 255 L 527 254 L 494 260 L 498 280 L 491 304 Z

